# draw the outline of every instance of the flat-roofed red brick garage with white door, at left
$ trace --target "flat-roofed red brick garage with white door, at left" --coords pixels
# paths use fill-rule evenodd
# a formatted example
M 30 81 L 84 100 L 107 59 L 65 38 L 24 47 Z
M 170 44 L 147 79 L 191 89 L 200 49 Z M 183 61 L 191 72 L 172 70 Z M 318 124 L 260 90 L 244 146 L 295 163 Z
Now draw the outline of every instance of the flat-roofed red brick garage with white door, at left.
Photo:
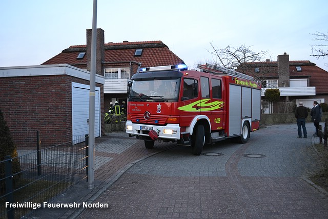
M 72 141 L 88 134 L 90 73 L 69 65 L 0 68 L 0 108 L 19 145 Z M 104 78 L 96 77 L 95 137 L 104 135 Z M 32 142 L 31 142 L 32 141 Z

